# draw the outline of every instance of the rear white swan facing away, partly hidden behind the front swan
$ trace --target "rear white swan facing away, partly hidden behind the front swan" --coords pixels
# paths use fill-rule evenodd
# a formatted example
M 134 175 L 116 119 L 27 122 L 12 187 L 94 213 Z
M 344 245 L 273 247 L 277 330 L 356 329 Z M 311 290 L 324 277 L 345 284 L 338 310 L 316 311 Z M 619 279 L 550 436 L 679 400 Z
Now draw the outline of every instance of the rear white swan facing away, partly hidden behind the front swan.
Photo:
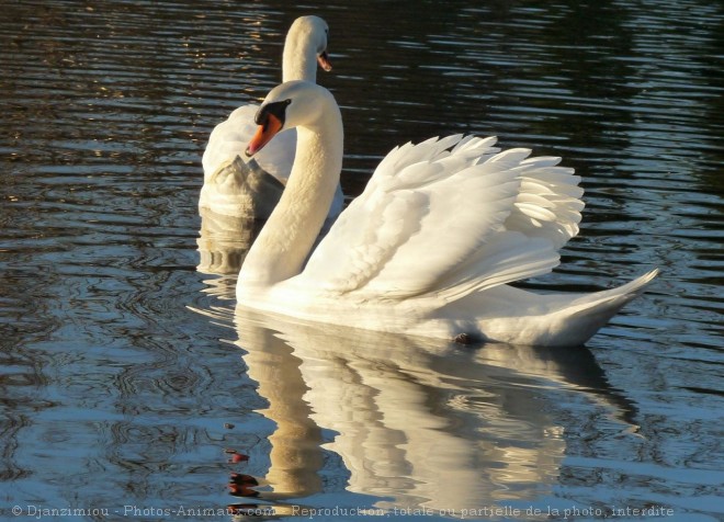
M 331 70 L 327 55 L 329 27 L 319 16 L 301 16 L 290 27 L 282 58 L 282 81 L 317 79 L 317 64 Z M 222 215 L 265 219 L 281 196 L 294 162 L 296 132 L 280 133 L 269 150 L 251 161 L 244 151 L 253 136 L 258 104 L 242 105 L 219 123 L 208 138 L 202 158 L 204 185 L 199 206 Z M 340 186 L 335 194 L 330 217 L 343 204 Z

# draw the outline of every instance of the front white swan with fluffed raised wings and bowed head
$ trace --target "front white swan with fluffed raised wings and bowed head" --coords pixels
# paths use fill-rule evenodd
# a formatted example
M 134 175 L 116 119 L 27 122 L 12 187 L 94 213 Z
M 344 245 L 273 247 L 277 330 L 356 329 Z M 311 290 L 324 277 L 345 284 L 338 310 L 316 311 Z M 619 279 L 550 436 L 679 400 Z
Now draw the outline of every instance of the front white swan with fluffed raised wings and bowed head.
M 247 154 L 297 128 L 294 168 L 239 272 L 237 302 L 305 320 L 414 336 L 577 345 L 654 279 L 592 294 L 507 283 L 550 272 L 578 232 L 579 178 L 559 159 L 450 136 L 395 148 L 313 250 L 342 162 L 326 89 L 274 88 Z

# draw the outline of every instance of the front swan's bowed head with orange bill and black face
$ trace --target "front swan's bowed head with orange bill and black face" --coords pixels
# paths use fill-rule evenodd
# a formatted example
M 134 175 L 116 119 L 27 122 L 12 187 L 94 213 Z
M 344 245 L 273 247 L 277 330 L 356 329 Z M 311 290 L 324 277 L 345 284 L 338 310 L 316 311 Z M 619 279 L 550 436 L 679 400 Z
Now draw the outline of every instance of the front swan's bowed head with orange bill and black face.
M 276 86 L 257 111 L 254 122 L 259 127 L 249 141 L 247 156 L 259 152 L 286 128 L 314 125 L 327 112 L 327 104 L 337 106 L 331 93 L 316 83 L 294 80 Z

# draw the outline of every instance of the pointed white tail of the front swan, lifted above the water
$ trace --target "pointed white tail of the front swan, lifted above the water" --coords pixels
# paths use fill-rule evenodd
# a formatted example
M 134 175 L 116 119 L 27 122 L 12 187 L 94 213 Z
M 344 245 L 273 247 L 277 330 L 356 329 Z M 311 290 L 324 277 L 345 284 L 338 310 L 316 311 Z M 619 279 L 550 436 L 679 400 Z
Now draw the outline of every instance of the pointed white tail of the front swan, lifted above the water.
M 565 322 L 575 334 L 567 339 L 566 344 L 585 343 L 621 308 L 643 293 L 657 274 L 658 269 L 655 269 L 622 286 L 588 294 L 574 302 L 567 310 Z

